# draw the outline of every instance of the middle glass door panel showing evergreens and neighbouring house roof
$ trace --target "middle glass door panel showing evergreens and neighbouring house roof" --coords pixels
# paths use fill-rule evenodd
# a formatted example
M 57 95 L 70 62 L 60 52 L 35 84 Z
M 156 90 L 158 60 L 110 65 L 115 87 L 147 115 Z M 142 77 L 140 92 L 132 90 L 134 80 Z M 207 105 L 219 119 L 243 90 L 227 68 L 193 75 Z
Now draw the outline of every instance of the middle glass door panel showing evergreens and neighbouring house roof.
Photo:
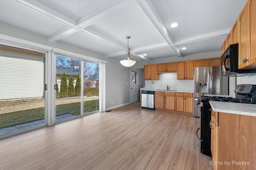
M 77 59 L 56 55 L 55 122 L 82 115 L 81 64 Z

